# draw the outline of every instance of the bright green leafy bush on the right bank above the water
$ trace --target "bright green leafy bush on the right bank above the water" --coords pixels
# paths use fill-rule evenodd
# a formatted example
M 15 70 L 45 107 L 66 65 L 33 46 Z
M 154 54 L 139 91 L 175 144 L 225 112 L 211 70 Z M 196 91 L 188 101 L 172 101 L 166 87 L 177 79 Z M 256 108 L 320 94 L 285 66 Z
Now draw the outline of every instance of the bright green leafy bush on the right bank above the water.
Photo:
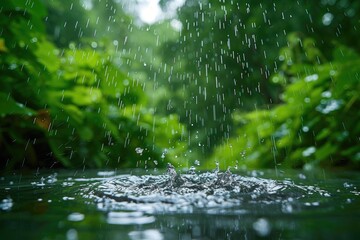
M 360 167 L 360 56 L 340 45 L 331 62 L 319 64 L 312 44 L 301 49 L 307 59 L 290 57 L 297 48 L 283 49 L 288 57 L 272 78 L 285 86 L 283 103 L 235 113 L 237 137 L 217 148 L 214 159 L 248 168 Z

